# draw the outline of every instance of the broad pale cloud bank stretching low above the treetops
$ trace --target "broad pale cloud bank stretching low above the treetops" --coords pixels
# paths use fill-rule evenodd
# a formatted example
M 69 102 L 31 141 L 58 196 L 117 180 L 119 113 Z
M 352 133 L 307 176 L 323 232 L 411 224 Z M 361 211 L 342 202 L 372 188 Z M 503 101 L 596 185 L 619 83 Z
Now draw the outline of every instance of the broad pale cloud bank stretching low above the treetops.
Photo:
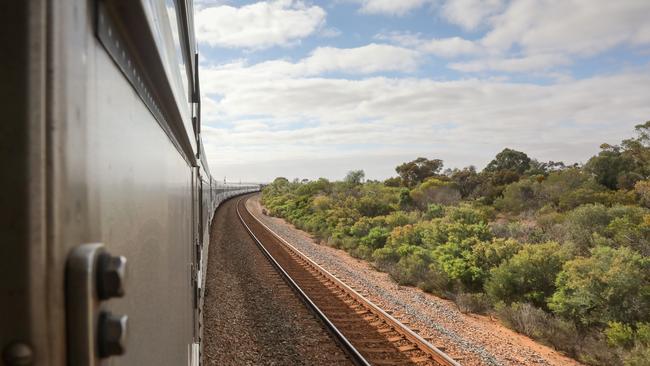
M 353 165 L 331 170 L 337 177 L 364 162 L 423 154 L 449 166 L 481 166 L 506 146 L 543 160 L 585 161 L 600 143 L 620 141 L 650 115 L 647 67 L 544 86 L 323 78 L 243 62 L 207 68 L 202 77 L 204 92 L 219 96 L 206 98 L 211 106 L 204 115 L 213 126 L 206 135 L 215 171 L 284 162 L 293 170 L 277 174 L 312 177 L 324 174 L 317 159 Z M 372 176 L 386 177 L 392 168 Z

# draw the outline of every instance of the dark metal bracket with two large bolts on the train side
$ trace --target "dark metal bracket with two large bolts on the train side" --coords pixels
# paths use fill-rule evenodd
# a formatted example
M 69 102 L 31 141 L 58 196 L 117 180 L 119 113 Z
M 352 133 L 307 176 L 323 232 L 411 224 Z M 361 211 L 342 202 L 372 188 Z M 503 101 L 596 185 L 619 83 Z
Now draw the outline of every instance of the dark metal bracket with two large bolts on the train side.
M 125 293 L 126 258 L 110 255 L 101 243 L 73 249 L 66 263 L 68 363 L 94 366 L 126 351 L 128 317 L 104 303 Z

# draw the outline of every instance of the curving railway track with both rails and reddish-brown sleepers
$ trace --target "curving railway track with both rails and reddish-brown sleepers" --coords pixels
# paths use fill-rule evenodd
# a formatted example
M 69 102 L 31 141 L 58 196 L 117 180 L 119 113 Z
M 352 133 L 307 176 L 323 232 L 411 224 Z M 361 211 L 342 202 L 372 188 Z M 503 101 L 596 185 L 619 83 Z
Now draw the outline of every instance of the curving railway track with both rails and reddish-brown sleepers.
M 237 202 L 260 250 L 357 365 L 460 364 L 309 259 Z

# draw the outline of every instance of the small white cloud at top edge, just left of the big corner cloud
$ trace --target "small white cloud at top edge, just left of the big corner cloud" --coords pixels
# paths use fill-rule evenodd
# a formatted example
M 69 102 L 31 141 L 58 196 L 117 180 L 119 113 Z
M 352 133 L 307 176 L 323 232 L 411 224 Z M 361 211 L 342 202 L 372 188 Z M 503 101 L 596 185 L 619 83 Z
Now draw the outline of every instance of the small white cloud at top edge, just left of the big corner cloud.
M 503 0 L 447 0 L 442 16 L 452 24 L 473 30 L 503 8 Z

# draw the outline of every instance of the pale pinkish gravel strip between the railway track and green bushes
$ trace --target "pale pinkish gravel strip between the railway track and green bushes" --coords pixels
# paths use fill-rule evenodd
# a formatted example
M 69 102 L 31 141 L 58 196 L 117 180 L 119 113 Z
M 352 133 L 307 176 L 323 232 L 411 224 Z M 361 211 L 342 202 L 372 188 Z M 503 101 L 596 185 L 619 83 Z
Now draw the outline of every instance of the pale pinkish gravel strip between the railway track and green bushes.
M 400 286 L 369 263 L 316 243 L 309 234 L 284 220 L 264 215 L 259 198 L 256 195 L 249 199 L 247 207 L 269 228 L 375 304 L 418 329 L 463 365 L 581 365 L 495 320 L 462 314 L 451 301 Z

